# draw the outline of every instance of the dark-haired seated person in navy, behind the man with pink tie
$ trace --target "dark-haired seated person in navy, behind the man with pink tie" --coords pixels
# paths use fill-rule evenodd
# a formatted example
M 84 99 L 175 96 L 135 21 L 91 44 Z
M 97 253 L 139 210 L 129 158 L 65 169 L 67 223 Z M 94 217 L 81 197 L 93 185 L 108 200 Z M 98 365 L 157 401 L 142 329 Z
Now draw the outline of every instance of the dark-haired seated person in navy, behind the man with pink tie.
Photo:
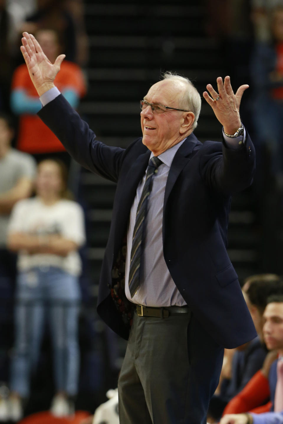
M 221 379 L 218 392 L 214 393 L 210 400 L 207 419 L 210 422 L 219 421 L 227 403 L 262 368 L 263 361 L 266 357 L 266 349 L 262 344 L 262 315 L 267 297 L 274 293 L 277 288 L 283 293 L 283 282 L 280 282 L 280 277 L 277 275 L 262 274 L 246 279 L 244 288 L 248 290 L 248 293 L 252 294 L 251 302 L 249 294 L 243 290 L 245 301 L 255 324 L 255 329 L 258 332 L 258 337 L 243 346 L 239 346 L 234 352 L 230 352 L 230 356 L 227 357 L 227 361 L 230 360 L 231 363 L 231 375 Z M 224 370 L 225 368 L 227 368 L 227 363 L 224 363 Z

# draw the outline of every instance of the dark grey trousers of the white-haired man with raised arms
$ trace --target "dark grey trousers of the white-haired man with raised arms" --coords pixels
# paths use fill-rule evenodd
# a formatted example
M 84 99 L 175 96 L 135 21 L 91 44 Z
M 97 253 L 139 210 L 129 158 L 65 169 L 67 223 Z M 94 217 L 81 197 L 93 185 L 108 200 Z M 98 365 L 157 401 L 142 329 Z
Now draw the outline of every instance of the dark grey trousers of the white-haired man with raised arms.
M 191 313 L 134 313 L 118 379 L 120 424 L 206 423 L 224 349 L 202 330 Z

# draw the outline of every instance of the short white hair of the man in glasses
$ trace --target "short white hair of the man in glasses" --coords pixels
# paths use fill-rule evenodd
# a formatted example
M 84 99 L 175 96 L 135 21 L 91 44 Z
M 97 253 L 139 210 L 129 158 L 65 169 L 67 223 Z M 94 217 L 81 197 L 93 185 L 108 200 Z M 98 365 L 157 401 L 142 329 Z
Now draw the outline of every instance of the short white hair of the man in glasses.
M 195 120 L 193 123 L 194 130 L 197 126 L 197 121 L 199 119 L 199 113 L 202 106 L 202 99 L 199 95 L 199 92 L 188 78 L 182 77 L 181 75 L 177 75 L 172 72 L 165 72 L 162 76 L 163 80 L 171 80 L 185 83 L 187 88 L 184 90 L 184 93 L 180 98 L 180 107 L 182 107 L 182 109 L 193 112 L 193 114 L 195 115 Z

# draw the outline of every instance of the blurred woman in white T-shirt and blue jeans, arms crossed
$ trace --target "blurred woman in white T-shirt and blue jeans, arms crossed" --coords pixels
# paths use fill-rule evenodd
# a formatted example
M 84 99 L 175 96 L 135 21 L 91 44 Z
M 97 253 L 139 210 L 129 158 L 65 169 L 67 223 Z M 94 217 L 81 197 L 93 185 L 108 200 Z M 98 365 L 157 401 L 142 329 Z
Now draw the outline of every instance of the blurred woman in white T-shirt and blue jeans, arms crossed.
M 22 417 L 22 400 L 29 396 L 30 374 L 38 362 L 45 315 L 53 344 L 53 415 L 73 413 L 73 398 L 78 390 L 78 248 L 85 241 L 84 216 L 81 206 L 67 200 L 66 176 L 61 162 L 41 162 L 36 197 L 18 202 L 9 224 L 8 247 L 19 254 L 16 335 L 7 411 L 13 421 Z

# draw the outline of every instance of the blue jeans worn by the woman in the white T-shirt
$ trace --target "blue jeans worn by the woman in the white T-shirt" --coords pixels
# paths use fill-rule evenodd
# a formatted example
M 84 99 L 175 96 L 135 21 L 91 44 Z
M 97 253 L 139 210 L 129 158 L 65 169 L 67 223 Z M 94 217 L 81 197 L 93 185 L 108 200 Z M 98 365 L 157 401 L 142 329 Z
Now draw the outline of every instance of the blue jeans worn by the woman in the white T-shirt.
M 59 268 L 33 268 L 17 277 L 15 346 L 11 361 L 11 391 L 28 397 L 30 373 L 39 359 L 48 319 L 53 345 L 57 391 L 74 396 L 78 389 L 78 313 L 81 298 L 78 277 Z

